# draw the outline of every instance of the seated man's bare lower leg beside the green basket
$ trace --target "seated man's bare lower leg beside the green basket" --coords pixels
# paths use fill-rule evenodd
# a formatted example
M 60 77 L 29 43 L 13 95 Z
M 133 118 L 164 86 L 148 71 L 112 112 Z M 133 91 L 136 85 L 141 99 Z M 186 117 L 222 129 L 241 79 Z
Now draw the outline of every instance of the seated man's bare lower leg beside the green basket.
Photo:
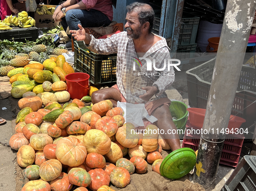
M 169 129 L 176 129 L 174 122 L 172 121 L 172 115 L 167 105 L 162 105 L 153 111 L 152 116 L 155 116 L 158 121 L 155 122 L 156 126 L 161 130 L 164 130 L 162 138 L 169 144 L 172 151 L 181 148 L 180 139 L 178 134 L 168 134 Z

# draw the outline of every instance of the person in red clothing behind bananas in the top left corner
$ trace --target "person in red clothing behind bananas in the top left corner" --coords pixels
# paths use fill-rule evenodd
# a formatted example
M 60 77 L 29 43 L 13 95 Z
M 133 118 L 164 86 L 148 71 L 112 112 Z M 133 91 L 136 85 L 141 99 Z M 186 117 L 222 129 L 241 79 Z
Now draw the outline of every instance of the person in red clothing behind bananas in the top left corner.
M 16 15 L 21 11 L 26 11 L 26 0 L 1 0 L 1 19 L 5 16 Z

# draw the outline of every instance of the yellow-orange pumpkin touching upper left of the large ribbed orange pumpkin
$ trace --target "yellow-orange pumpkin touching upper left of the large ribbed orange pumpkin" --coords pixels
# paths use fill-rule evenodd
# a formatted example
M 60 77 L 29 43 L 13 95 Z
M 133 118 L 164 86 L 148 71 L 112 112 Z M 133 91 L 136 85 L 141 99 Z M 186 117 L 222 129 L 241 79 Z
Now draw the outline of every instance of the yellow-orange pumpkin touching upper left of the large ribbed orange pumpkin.
M 43 150 L 47 144 L 52 144 L 52 138 L 44 133 L 32 135 L 29 141 L 35 150 Z

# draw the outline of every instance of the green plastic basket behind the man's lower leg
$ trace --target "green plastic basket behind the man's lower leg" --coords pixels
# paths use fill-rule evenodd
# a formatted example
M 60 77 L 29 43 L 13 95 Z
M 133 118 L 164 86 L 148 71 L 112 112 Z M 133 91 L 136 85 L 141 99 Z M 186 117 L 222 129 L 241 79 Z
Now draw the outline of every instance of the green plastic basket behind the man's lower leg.
M 185 130 L 187 119 L 188 119 L 188 106 L 181 101 L 172 101 L 169 106 L 172 117 L 176 119 L 173 120 L 177 129 Z

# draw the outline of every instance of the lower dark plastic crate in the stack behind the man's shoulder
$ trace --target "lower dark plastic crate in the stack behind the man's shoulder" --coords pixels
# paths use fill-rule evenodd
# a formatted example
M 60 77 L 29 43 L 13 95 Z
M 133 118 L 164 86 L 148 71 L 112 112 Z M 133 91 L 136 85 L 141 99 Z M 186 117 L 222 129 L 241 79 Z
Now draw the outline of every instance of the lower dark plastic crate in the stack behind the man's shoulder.
M 177 59 L 194 58 L 196 47 L 197 47 L 197 44 L 178 45 L 176 58 Z

